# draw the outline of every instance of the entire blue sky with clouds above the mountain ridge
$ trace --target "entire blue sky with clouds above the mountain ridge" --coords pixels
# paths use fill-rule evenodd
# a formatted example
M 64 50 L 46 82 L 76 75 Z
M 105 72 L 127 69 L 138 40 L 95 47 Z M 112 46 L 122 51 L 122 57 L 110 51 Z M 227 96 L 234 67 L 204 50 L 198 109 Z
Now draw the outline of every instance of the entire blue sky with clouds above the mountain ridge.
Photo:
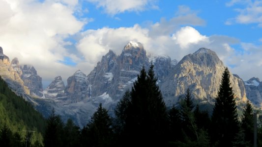
M 0 20 L 4 53 L 44 83 L 88 74 L 131 40 L 177 60 L 212 49 L 232 73 L 262 79 L 262 0 L 0 0 Z

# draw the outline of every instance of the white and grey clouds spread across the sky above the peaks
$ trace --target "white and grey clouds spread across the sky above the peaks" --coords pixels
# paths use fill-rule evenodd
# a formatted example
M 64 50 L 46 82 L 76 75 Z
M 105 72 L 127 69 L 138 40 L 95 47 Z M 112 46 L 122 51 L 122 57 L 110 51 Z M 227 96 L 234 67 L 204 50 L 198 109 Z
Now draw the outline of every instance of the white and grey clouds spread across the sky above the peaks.
M 156 0 L 87 1 L 109 17 L 159 9 Z M 225 5 L 235 2 L 232 0 Z M 21 64 L 33 64 L 44 81 L 51 81 L 57 75 L 66 79 L 79 69 L 88 74 L 109 49 L 119 54 L 132 40 L 141 42 L 147 53 L 167 54 L 177 60 L 199 48 L 209 48 L 245 80 L 250 76 L 262 78 L 261 46 L 223 34 L 201 34 L 197 28 L 208 22 L 199 16 L 200 12 L 188 6 L 178 6 L 173 18 L 162 18 L 146 25 L 88 29 L 85 26 L 95 19 L 88 17 L 88 10 L 82 3 L 82 0 L 0 0 L 0 46 L 4 54 L 18 57 Z M 260 25 L 259 5 L 259 1 L 251 3 L 228 24 Z M 82 13 L 87 15 L 81 17 Z M 237 20 L 251 14 L 254 14 L 253 21 Z M 235 45 L 241 46 L 241 50 L 234 49 Z M 257 72 L 250 75 L 252 70 Z

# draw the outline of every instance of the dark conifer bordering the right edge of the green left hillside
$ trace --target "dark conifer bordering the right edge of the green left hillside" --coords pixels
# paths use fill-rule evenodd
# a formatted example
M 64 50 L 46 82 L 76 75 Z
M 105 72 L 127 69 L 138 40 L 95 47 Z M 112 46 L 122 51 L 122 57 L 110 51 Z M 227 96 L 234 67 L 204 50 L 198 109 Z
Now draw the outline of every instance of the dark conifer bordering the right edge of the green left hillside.
M 47 120 L 47 127 L 44 136 L 45 147 L 62 147 L 63 123 L 55 110 Z

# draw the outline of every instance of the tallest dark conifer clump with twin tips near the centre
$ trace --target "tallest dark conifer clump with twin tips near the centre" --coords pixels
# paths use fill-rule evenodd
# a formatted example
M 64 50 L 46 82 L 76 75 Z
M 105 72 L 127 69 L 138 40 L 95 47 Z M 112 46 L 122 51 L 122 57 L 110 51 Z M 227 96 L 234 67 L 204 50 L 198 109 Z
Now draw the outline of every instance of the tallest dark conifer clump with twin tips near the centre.
M 166 143 L 166 106 L 156 84 L 153 67 L 151 63 L 147 74 L 143 67 L 132 87 L 124 130 L 129 144 L 125 146 L 164 146 Z

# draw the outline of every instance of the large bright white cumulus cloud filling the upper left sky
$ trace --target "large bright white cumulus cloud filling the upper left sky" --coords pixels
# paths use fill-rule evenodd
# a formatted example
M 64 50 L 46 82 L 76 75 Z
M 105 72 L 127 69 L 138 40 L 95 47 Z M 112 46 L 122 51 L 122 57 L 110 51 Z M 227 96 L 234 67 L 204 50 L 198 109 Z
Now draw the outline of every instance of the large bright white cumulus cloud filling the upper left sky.
M 58 61 L 68 53 L 64 41 L 79 32 L 85 22 L 75 18 L 77 0 L 0 0 L 0 46 L 4 54 L 32 64 L 43 79 L 60 74 L 67 78 L 72 68 Z M 58 70 L 59 69 L 59 70 Z M 55 74 L 55 75 L 54 75 Z

